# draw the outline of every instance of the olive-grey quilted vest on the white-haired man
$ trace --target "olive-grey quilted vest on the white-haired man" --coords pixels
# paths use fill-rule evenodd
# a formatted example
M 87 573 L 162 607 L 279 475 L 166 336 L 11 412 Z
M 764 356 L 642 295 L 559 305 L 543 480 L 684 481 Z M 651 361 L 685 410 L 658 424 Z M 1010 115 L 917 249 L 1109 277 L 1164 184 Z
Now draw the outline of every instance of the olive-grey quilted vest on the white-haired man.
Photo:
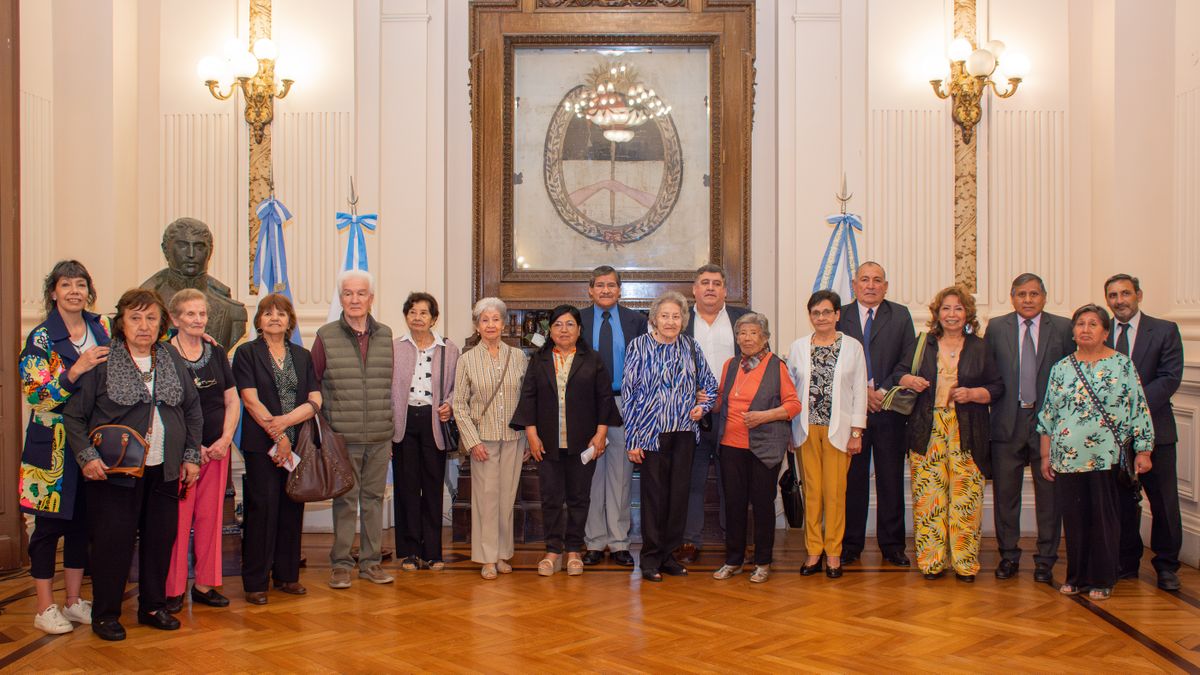
M 367 359 L 362 363 L 354 330 L 338 318 L 317 330 L 325 347 L 320 380 L 322 410 L 347 443 L 391 441 L 391 329 L 367 317 Z

